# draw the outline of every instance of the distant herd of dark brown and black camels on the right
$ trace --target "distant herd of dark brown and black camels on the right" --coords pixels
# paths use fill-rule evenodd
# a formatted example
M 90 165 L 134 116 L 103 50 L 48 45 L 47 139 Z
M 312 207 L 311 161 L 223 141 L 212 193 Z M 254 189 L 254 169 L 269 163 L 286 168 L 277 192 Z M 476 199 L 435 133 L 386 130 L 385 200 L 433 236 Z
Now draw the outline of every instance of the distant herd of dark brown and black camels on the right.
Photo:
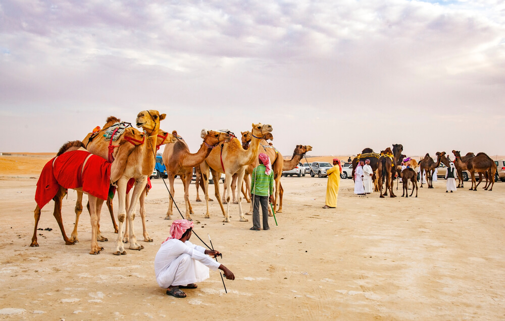
M 463 187 L 463 171 L 467 170 L 470 172 L 472 179 L 472 186 L 470 190 L 477 190 L 477 186 L 481 183 L 482 177 L 486 179 L 486 184 L 484 185 L 485 190 L 493 190 L 494 177 L 496 173 L 496 163 L 485 153 L 467 153 L 465 156 L 461 156 L 460 151 L 453 150 L 452 154 L 455 157 L 454 161 L 446 156 L 445 152 L 437 152 L 436 162 L 431 158 L 429 154 L 426 154 L 423 159 L 417 162 L 415 159 L 410 161 L 410 167 L 406 169 L 401 169 L 401 160 L 406 157 L 406 155 L 401 154 L 403 151 L 403 146 L 401 144 L 393 144 L 393 149 L 390 147 L 381 151 L 380 154 L 374 153 L 371 148 L 365 148 L 361 154 L 356 156 L 352 160 L 352 176 L 354 177 L 354 171 L 358 162 L 364 160 L 370 160 L 370 166 L 374 171 L 373 181 L 375 186 L 375 191 L 380 191 L 380 198 L 387 196 L 387 191 L 389 190 L 390 197 L 394 198 L 396 195 L 393 193 L 393 178 L 395 175 L 402 178 L 403 183 L 403 194 L 402 197 L 409 197 L 407 192 L 408 181 L 413 183 L 413 188 L 411 195 L 414 194 L 414 186 L 416 188 L 417 197 L 417 167 L 420 168 L 421 173 L 426 173 L 426 182 L 428 188 L 433 188 L 433 174 L 435 169 L 440 165 L 440 163 L 449 167 L 449 163 L 453 162 L 457 173 L 458 173 L 458 187 Z M 475 174 L 479 174 L 479 183 L 476 182 Z M 385 192 L 382 193 L 382 186 L 385 184 Z M 423 187 L 423 180 L 421 179 L 421 187 Z

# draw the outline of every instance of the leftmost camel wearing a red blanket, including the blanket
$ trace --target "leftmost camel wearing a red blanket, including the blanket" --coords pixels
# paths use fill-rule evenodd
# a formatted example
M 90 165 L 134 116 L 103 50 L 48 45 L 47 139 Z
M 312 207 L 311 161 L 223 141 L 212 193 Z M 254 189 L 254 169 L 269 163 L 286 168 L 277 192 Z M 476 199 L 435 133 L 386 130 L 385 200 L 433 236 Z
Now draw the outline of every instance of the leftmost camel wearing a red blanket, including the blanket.
M 91 251 L 89 253 L 98 254 L 100 250 L 103 250 L 96 240 L 102 205 L 108 198 L 111 182 L 115 182 L 123 175 L 128 156 L 143 138 L 144 135 L 139 131 L 133 128 L 128 129 L 112 163 L 86 151 L 80 141 L 68 142 L 62 146 L 57 156 L 44 166 L 37 182 L 35 227 L 30 246 L 38 246 L 37 226 L 40 210 L 52 199 L 55 201 L 53 215 L 60 226 L 65 244 L 74 244 L 65 234 L 61 215 L 62 199 L 67 194 L 67 189 L 73 188 L 86 193 L 89 199 L 91 220 Z

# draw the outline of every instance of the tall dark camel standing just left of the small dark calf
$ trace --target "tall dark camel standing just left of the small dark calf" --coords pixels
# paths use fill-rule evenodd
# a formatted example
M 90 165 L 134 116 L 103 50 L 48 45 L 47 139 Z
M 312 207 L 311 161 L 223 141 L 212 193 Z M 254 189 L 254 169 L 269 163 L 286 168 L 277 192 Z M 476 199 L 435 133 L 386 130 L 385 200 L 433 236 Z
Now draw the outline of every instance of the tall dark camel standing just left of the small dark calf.
M 395 198 L 396 195 L 393 193 L 393 177 L 395 174 L 395 168 L 398 165 L 401 157 L 403 156 L 401 152 L 403 151 L 403 145 L 393 144 L 393 150 L 391 148 L 386 148 L 386 150 L 381 151 L 381 156 L 377 163 L 378 185 L 380 190 L 380 198 L 387 196 L 387 190 L 389 188 L 389 194 L 391 198 Z M 384 194 L 382 194 L 382 183 L 386 178 L 386 189 Z

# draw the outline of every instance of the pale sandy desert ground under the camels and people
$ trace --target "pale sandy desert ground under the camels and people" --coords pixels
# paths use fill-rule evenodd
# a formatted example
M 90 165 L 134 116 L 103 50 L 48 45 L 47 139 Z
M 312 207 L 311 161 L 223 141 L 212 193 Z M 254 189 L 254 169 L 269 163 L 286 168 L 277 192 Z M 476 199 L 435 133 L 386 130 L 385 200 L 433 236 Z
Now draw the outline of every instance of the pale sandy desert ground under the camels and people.
M 439 179 L 434 189 L 420 189 L 417 199 L 379 199 L 355 196 L 346 179 L 337 209 L 325 210 L 325 178 L 283 177 L 279 225 L 271 218 L 271 229 L 259 232 L 249 230 L 250 221 L 238 221 L 238 205 L 230 205 L 232 222 L 224 224 L 217 202 L 210 203 L 211 219 L 204 219 L 205 203 L 193 202 L 195 232 L 207 243 L 211 235 L 223 252 L 220 262 L 236 279 L 225 280 L 226 294 L 219 273 L 211 271 L 197 289 L 186 290 L 187 298 L 177 299 L 158 287 L 153 268 L 171 224 L 164 220 L 168 192 L 161 179 L 146 199 L 154 242 L 141 242 L 143 250 L 112 254 L 117 234 L 106 208 L 101 225 L 109 242 L 100 243 L 102 253 L 88 254 L 87 214 L 79 224 L 80 242 L 65 245 L 53 202 L 43 208 L 38 226 L 53 230 L 37 231 L 40 246 L 29 246 L 36 166 L 49 158 L 19 157 L 20 169 L 12 158 L 0 157 L 0 319 L 178 320 L 187 319 L 184 313 L 250 320 L 505 318 L 505 183 L 497 182 L 493 191 L 450 194 Z M 182 187 L 177 181 L 181 208 Z M 396 193 L 401 195 L 401 186 Z M 195 195 L 192 184 L 191 201 Z M 69 235 L 75 199 L 70 190 L 63 204 Z M 135 224 L 141 239 L 138 216 Z M 191 241 L 201 244 L 195 236 Z

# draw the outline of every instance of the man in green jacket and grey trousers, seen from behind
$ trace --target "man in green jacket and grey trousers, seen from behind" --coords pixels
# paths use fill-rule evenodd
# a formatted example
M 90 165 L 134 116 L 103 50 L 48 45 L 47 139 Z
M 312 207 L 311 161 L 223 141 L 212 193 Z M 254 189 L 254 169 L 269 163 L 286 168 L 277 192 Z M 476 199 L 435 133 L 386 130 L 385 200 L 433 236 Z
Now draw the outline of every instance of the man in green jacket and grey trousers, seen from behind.
M 274 173 L 272 172 L 272 164 L 270 164 L 270 159 L 265 153 L 260 153 L 258 159 L 260 165 L 252 170 L 251 180 L 252 227 L 250 230 L 252 231 L 261 230 L 260 204 L 263 213 L 263 229 L 270 229 L 268 226 L 268 201 L 274 202 Z

